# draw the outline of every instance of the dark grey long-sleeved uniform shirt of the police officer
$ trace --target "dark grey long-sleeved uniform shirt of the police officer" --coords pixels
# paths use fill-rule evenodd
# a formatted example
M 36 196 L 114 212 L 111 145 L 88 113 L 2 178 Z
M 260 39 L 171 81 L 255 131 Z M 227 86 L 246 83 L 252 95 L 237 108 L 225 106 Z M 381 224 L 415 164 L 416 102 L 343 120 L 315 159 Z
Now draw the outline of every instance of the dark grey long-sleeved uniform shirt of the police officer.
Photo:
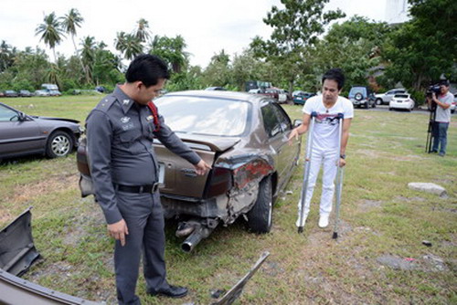
M 108 224 L 122 219 L 113 184 L 146 185 L 158 181 L 154 136 L 172 151 L 197 164 L 201 159 L 165 125 L 155 131 L 151 110 L 119 87 L 100 101 L 87 118 L 87 139 L 95 195 Z

